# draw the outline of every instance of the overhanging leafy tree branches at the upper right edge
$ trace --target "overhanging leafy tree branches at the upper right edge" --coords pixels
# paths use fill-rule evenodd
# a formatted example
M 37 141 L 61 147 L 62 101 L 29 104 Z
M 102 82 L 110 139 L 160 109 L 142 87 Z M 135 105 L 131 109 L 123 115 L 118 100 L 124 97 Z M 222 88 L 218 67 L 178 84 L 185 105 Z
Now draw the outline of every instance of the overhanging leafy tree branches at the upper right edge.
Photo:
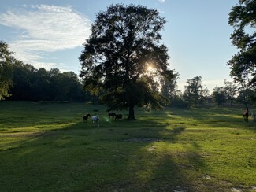
M 256 0 L 239 0 L 229 13 L 229 21 L 235 28 L 231 35 L 232 44 L 239 49 L 228 65 L 232 77 L 247 83 L 256 90 Z

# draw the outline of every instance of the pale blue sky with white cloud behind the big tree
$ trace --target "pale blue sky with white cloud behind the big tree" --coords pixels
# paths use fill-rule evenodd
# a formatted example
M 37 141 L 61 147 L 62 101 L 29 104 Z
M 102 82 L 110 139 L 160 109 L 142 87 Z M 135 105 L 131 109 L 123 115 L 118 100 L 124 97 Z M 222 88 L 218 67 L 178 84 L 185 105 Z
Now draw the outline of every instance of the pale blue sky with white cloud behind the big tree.
M 79 74 L 78 57 L 96 14 L 115 3 L 158 9 L 167 23 L 162 31 L 171 69 L 180 73 L 179 90 L 187 79 L 202 76 L 209 90 L 230 80 L 227 61 L 232 46 L 228 13 L 238 0 L 4 0 L 0 34 L 15 57 L 35 68 L 59 68 Z

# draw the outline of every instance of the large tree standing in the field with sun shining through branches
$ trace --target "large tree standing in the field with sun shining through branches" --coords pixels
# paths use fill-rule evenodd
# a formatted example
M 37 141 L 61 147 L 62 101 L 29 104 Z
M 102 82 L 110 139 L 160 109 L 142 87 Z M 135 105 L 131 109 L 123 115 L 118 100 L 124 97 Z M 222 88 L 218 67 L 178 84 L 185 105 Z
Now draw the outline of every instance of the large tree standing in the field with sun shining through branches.
M 160 42 L 164 24 L 158 10 L 144 6 L 117 4 L 98 13 L 80 55 L 85 90 L 102 90 L 102 102 L 109 109 L 128 108 L 129 120 L 135 119 L 135 105 L 161 107 L 167 100 L 155 85 L 161 77 L 173 78 L 168 49 Z

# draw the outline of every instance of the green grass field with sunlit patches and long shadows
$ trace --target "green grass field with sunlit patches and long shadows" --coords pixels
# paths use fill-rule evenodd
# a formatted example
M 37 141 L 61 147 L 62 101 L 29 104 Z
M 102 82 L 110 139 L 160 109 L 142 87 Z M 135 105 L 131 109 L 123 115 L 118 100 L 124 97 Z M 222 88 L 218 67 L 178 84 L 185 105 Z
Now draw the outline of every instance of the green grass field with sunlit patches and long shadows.
M 107 121 L 101 105 L 0 102 L 0 191 L 256 191 L 256 124 L 242 110 Z

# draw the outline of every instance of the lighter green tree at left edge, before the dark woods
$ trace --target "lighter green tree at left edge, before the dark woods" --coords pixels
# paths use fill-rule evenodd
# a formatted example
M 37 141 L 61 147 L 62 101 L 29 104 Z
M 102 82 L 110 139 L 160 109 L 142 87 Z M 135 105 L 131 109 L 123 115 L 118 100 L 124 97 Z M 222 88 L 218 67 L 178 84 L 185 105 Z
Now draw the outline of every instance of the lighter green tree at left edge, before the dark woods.
M 0 100 L 9 97 L 12 86 L 12 64 L 14 57 L 6 42 L 0 41 Z

